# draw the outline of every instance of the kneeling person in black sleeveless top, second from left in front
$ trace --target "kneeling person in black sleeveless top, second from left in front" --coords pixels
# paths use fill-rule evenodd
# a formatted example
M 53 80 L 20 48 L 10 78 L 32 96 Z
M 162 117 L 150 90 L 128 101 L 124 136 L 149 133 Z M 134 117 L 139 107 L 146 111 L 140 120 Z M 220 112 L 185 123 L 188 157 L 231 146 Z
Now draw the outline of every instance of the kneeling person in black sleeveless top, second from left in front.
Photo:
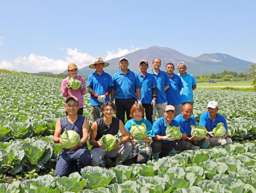
M 114 118 L 115 105 L 113 102 L 105 102 L 101 106 L 101 112 L 104 117 L 97 119 L 91 126 L 90 144 L 92 145 L 92 166 L 105 167 L 105 157 L 117 157 L 115 165 L 121 165 L 126 161 L 131 152 L 130 136 L 123 124 L 117 118 Z M 105 149 L 100 139 L 107 134 L 115 136 L 118 131 L 122 133 L 124 138 L 122 140 L 116 139 L 117 143 L 111 149 Z M 115 141 L 114 141 L 115 142 Z

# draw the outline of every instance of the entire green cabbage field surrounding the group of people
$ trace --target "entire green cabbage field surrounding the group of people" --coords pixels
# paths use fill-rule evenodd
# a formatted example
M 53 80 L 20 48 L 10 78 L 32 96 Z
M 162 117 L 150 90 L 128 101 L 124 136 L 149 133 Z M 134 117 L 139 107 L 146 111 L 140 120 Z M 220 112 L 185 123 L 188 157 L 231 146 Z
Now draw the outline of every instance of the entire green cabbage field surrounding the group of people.
M 52 135 L 57 118 L 65 116 L 62 80 L 11 73 L 0 79 L 0 177 L 55 168 L 61 146 Z M 84 98 L 90 117 L 89 94 Z M 256 193 L 256 93 L 196 89 L 194 98 L 197 121 L 209 101 L 219 103 L 234 144 L 147 165 L 87 166 L 69 178 L 2 181 L 0 193 Z

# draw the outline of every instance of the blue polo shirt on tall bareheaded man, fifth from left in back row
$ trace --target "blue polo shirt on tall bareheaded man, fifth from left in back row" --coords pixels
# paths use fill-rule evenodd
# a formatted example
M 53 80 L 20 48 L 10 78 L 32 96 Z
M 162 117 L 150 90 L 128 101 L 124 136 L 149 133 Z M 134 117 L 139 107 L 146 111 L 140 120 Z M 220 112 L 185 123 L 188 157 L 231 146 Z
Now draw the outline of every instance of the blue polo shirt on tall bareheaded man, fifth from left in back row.
M 159 70 L 157 75 L 153 70 L 151 70 L 149 73 L 153 74 L 153 76 L 156 79 L 156 89 L 157 89 L 156 104 L 167 102 L 164 87 L 171 84 L 169 80 L 169 76 L 165 71 L 162 71 L 162 70 Z

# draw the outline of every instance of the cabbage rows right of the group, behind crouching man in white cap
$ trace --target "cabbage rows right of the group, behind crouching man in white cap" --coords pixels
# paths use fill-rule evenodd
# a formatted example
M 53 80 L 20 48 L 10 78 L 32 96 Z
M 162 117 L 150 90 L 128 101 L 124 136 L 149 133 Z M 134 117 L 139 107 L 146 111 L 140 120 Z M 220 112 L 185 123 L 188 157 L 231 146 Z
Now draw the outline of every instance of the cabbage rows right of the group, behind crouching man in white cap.
M 232 139 L 256 138 L 256 93 L 196 89 L 194 91 L 194 115 L 199 122 L 202 112 L 207 111 L 209 101 L 219 103 L 218 113 L 227 119 Z

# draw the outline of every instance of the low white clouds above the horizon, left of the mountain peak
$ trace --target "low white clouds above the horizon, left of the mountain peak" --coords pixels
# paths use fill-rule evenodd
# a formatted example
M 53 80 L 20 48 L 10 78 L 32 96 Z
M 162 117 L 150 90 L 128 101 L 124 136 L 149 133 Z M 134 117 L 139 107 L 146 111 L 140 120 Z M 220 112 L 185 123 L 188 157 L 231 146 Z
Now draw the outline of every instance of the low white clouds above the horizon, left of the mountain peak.
M 64 60 L 48 58 L 47 56 L 30 54 L 28 56 L 18 56 L 12 61 L 2 60 L 0 61 L 0 69 L 9 69 L 24 72 L 53 72 L 61 73 L 67 69 L 69 63 L 75 63 L 79 69 L 88 66 L 93 63 L 94 56 L 87 53 L 78 52 L 78 50 L 71 48 L 60 48 L 61 51 L 66 51 L 67 56 Z M 139 48 L 131 50 L 126 48 L 118 48 L 117 52 L 107 51 L 107 55 L 104 60 L 109 60 L 115 57 L 120 57 L 128 53 L 134 52 Z

